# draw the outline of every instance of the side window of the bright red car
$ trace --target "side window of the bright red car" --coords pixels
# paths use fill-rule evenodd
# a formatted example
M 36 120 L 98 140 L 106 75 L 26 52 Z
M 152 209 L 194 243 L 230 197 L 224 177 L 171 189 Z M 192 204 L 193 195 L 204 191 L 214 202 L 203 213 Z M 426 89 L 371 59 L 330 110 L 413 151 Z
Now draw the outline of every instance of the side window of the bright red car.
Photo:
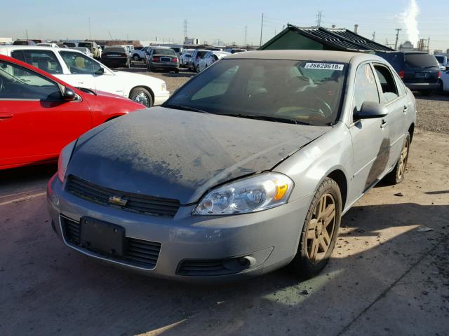
M 54 101 L 61 98 L 58 84 L 17 64 L 0 61 L 0 99 Z

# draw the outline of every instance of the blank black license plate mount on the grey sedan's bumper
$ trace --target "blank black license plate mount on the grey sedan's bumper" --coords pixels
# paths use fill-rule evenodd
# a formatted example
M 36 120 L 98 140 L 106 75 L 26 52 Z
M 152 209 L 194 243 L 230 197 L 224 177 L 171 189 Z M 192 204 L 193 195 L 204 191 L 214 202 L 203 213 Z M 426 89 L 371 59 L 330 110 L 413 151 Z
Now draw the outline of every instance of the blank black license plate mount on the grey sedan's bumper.
M 80 243 L 88 250 L 123 257 L 127 246 L 125 228 L 96 218 L 81 218 Z

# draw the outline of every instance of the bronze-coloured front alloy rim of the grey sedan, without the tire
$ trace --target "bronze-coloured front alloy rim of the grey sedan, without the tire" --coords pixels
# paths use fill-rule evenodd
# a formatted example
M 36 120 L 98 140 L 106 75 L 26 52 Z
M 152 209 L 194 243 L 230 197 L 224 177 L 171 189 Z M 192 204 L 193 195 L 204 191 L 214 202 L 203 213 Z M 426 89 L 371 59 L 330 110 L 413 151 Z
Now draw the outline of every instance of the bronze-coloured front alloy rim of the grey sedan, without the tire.
M 334 235 L 335 215 L 333 195 L 322 195 L 307 228 L 307 255 L 311 263 L 325 258 Z

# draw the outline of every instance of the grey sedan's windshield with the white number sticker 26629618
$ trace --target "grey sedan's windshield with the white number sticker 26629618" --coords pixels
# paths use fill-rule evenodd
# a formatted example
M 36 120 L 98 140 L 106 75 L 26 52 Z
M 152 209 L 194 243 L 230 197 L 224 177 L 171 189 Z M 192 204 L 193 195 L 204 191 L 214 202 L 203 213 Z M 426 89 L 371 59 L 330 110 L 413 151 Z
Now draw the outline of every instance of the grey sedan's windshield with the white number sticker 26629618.
M 340 110 L 346 64 L 223 59 L 163 106 L 242 118 L 328 125 Z

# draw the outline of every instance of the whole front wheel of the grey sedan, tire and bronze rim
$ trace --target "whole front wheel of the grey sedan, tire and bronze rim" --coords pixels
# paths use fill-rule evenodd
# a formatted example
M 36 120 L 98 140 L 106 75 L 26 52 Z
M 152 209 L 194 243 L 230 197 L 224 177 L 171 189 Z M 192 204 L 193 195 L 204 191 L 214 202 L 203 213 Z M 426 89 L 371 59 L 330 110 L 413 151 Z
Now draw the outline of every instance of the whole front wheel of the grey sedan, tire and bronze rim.
M 322 204 L 324 208 L 321 208 Z M 330 212 L 328 219 L 324 218 L 326 212 Z M 337 241 L 341 217 L 340 188 L 337 182 L 326 177 L 311 201 L 302 228 L 300 244 L 295 258 L 289 265 L 295 274 L 302 279 L 309 279 L 319 274 L 326 266 Z

